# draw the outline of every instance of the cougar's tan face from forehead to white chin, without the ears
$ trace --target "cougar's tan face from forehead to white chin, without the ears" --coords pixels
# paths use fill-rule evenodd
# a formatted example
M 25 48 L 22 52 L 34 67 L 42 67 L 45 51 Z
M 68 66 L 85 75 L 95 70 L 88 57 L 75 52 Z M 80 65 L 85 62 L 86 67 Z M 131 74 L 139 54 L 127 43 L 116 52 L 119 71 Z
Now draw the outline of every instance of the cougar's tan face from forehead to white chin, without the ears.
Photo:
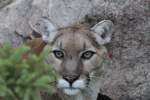
M 62 33 L 52 45 L 53 66 L 59 74 L 57 87 L 68 95 L 84 90 L 101 62 L 94 40 L 86 33 L 89 31 Z

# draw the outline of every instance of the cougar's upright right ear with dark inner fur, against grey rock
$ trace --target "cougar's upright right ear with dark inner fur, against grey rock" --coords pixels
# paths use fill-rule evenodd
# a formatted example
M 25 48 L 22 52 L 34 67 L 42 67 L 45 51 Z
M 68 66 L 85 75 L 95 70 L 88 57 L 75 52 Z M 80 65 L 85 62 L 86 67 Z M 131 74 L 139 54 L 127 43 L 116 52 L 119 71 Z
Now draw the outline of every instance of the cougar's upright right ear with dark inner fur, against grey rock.
M 109 43 L 113 31 L 113 22 L 110 20 L 103 20 L 93 26 L 91 30 L 94 32 L 94 38 L 100 45 Z

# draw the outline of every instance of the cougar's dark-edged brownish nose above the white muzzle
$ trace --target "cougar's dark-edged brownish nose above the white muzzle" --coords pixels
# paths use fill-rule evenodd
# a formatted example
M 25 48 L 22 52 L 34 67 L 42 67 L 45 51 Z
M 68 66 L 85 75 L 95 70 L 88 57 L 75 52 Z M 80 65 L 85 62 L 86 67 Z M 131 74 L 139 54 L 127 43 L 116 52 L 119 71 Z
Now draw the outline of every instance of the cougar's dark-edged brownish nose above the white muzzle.
M 80 75 L 63 75 L 63 78 L 70 83 L 73 84 L 74 81 L 79 79 Z

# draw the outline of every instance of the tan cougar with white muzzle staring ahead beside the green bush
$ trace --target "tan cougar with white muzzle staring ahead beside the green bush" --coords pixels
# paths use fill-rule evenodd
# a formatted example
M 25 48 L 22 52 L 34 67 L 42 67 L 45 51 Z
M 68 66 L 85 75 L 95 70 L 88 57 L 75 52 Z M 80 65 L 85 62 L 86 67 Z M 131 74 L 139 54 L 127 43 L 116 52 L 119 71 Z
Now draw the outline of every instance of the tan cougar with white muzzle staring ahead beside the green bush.
M 30 25 L 51 48 L 46 61 L 58 74 L 55 85 L 60 98 L 96 100 L 104 62 L 108 60 L 104 45 L 111 40 L 112 21 L 103 20 L 91 28 L 86 25 L 58 28 L 41 18 Z

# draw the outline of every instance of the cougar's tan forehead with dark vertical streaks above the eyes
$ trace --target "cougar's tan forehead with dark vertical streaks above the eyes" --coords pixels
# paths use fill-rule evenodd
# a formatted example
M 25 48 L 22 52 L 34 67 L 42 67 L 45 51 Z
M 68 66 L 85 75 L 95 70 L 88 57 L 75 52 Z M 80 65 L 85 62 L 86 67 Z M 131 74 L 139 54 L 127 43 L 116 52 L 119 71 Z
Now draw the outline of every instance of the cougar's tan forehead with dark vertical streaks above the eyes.
M 57 38 L 54 48 L 65 50 L 68 54 L 79 53 L 86 49 L 94 49 L 86 31 L 65 32 Z

